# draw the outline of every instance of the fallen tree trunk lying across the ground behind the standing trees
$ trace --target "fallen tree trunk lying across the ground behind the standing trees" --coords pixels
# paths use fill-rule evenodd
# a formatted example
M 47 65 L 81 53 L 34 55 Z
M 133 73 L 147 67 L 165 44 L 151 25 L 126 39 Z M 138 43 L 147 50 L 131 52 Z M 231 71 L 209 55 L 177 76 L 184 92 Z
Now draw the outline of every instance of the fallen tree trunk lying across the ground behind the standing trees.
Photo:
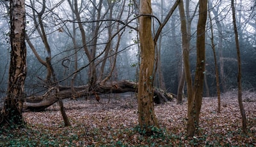
M 58 92 L 56 92 L 56 87 L 49 88 L 44 95 L 30 96 L 26 98 L 24 102 L 24 109 L 29 111 L 43 111 L 59 99 L 77 99 L 79 97 L 88 97 L 95 95 L 97 101 L 99 97 L 97 95 L 101 94 L 111 94 L 111 93 L 124 93 L 124 92 L 137 92 L 137 83 L 132 81 L 108 81 L 104 85 L 97 85 L 95 88 L 89 91 L 89 86 L 84 85 L 81 87 L 74 87 L 76 93 L 72 93 L 71 87 L 58 86 Z M 172 101 L 176 95 L 166 93 L 163 90 L 154 89 L 154 102 L 156 104 L 163 104 L 164 102 Z

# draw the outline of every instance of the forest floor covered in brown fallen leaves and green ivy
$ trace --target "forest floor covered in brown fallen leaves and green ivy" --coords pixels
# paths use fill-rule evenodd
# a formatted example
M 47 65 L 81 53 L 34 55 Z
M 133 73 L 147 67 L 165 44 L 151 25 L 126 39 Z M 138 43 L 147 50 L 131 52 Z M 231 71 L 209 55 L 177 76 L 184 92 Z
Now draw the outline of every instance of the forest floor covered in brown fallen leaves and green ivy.
M 0 146 L 256 146 L 256 93 L 243 92 L 248 134 L 241 131 L 237 92 L 204 98 L 200 128 L 186 137 L 187 103 L 156 105 L 160 129 L 143 136 L 138 129 L 134 94 L 112 94 L 95 99 L 64 101 L 72 126 L 64 127 L 57 104 L 43 112 L 25 112 L 24 129 L 1 129 Z

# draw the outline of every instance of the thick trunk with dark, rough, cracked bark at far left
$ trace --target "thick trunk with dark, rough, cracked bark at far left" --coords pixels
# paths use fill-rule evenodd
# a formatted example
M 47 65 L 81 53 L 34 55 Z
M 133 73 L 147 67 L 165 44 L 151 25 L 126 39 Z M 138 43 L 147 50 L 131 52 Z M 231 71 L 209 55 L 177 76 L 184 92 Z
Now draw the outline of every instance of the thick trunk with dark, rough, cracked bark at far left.
M 10 1 L 10 44 L 11 60 L 9 69 L 7 96 L 1 111 L 1 124 L 18 125 L 22 127 L 22 106 L 24 83 L 26 79 L 26 43 L 25 43 L 25 1 Z

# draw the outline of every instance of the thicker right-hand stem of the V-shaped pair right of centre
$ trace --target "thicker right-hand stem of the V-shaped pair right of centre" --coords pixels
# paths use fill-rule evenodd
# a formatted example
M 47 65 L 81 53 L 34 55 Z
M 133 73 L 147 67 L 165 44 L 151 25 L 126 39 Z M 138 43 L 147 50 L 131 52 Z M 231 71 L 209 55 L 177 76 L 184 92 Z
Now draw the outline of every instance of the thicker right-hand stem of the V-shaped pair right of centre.
M 202 106 L 205 74 L 205 24 L 207 20 L 207 1 L 199 1 L 199 18 L 196 32 L 196 73 L 193 96 L 188 97 L 188 136 L 195 134 L 199 125 Z

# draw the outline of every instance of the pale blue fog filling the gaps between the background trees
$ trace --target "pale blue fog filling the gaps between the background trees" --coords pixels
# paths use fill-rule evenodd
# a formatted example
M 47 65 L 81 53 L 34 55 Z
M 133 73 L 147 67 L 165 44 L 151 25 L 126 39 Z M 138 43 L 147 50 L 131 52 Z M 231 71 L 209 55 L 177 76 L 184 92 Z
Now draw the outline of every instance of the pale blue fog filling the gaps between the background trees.
M 135 1 L 134 1 L 135 2 Z M 111 71 L 113 66 L 113 58 L 117 50 L 116 64 L 111 80 L 132 80 L 136 81 L 139 65 L 140 52 L 138 52 L 138 32 L 134 29 L 137 27 L 138 22 L 134 19 L 134 16 L 138 15 L 138 7 L 136 4 L 130 1 L 112 1 L 111 3 L 102 2 L 102 8 L 100 10 L 100 17 L 97 18 L 99 11 L 95 10 L 95 6 L 90 2 L 83 4 L 78 2 L 79 14 L 81 15 L 81 21 L 86 33 L 86 42 L 88 50 L 96 48 L 95 57 L 100 55 L 106 49 L 106 46 L 110 48 L 107 56 L 100 55 L 95 59 L 97 76 L 100 76 L 100 70 L 103 68 L 102 60 L 104 57 L 108 57 L 104 66 L 104 73 L 102 77 L 106 77 Z M 163 8 L 158 1 L 152 1 L 152 10 L 154 15 L 161 20 L 161 12 L 163 11 L 163 17 L 168 10 L 172 7 L 174 1 L 169 3 L 163 1 Z M 189 17 L 193 17 L 191 22 L 191 45 L 190 45 L 190 60 L 191 60 L 191 73 L 195 73 L 195 32 L 196 22 L 198 17 L 198 11 L 196 2 L 191 1 L 189 7 Z M 35 46 L 36 52 L 42 59 L 47 57 L 45 51 L 45 45 L 40 38 L 38 28 L 40 26 L 35 25 L 38 22 L 38 13 L 42 8 L 40 3 L 36 1 L 26 1 L 26 13 L 27 13 L 27 27 L 26 32 L 31 43 Z M 95 4 L 99 4 L 99 1 L 95 1 Z M 234 43 L 234 33 L 232 32 L 232 21 L 229 12 L 229 1 L 212 1 L 211 17 L 212 27 L 214 29 L 214 43 L 216 45 L 216 55 L 218 64 L 223 62 L 223 78 L 220 79 L 221 92 L 232 90 L 236 88 L 236 75 L 237 75 L 237 62 L 236 62 L 236 50 Z M 6 83 L 8 77 L 8 59 L 10 46 L 8 43 L 8 13 L 6 5 L 1 2 L 1 95 L 5 94 Z M 98 5 L 96 5 L 98 6 Z M 123 9 L 124 6 L 124 9 Z M 98 6 L 99 7 L 99 6 Z M 244 90 L 254 90 L 255 88 L 255 7 L 253 7 L 253 1 L 237 1 L 237 26 L 239 29 L 239 42 L 241 46 L 241 60 L 242 60 L 242 85 Z M 111 9 L 109 9 L 111 8 Z M 163 9 L 163 10 L 162 10 Z M 99 9 L 98 9 L 99 10 Z M 195 13 L 194 13 L 195 11 Z M 34 14 L 33 14 L 34 13 Z M 35 15 L 35 16 L 33 16 Z M 34 22 L 34 18 L 36 18 Z M 76 55 L 77 55 L 77 68 L 83 67 L 88 64 L 88 58 L 83 50 L 83 44 L 81 41 L 81 32 L 79 31 L 78 24 L 76 23 L 74 13 L 66 1 L 47 1 L 45 3 L 45 11 L 42 14 L 42 24 L 44 25 L 45 34 L 47 35 L 47 41 L 51 47 L 52 66 L 56 73 L 57 80 L 60 80 L 61 85 L 70 85 L 70 74 L 76 71 Z M 134 20 L 132 20 L 134 19 Z M 104 20 L 97 22 L 96 20 Z M 105 21 L 108 20 L 108 21 Z M 122 23 L 127 24 L 129 27 L 124 27 L 124 24 L 115 22 L 120 20 Z M 130 20 L 132 20 L 130 22 Z M 162 20 L 163 21 L 163 20 Z M 209 87 L 210 96 L 216 95 L 216 77 L 214 74 L 214 59 L 210 46 L 210 31 L 209 20 L 207 20 L 207 36 L 206 36 L 206 66 L 205 75 L 207 79 L 207 85 Z M 99 31 L 97 32 L 97 42 L 95 41 L 95 26 L 99 23 Z M 73 26 L 74 25 L 74 26 Z M 158 27 L 158 22 L 154 19 L 154 30 Z M 173 16 L 170 18 L 168 24 L 164 27 L 161 38 L 161 71 L 163 72 L 164 83 L 166 90 L 172 93 L 177 93 L 177 87 L 180 78 L 180 65 L 181 65 L 181 42 L 180 42 L 180 20 L 179 11 L 175 10 Z M 134 27 L 134 28 L 132 28 Z M 118 28 L 122 29 L 118 35 L 114 36 L 118 32 Z M 118 40 L 120 36 L 120 40 Z M 109 39 L 111 45 L 109 45 Z M 72 41 L 72 39 L 75 41 Z M 118 42 L 119 41 L 119 42 Z M 220 46 L 221 42 L 221 46 Z M 76 47 L 74 45 L 76 43 Z M 28 46 L 28 45 L 27 45 Z M 89 49 L 90 48 L 90 49 Z M 159 49 L 159 48 L 158 48 Z M 111 57 L 110 57 L 111 56 Z M 159 58 L 160 59 L 160 58 Z M 159 61 L 160 62 L 160 61 Z M 221 67 L 219 68 L 221 70 Z M 89 67 L 85 67 L 82 71 L 77 73 L 75 85 L 84 85 L 88 83 L 88 70 Z M 42 90 L 44 85 L 42 80 L 45 79 L 46 69 L 36 59 L 33 52 L 28 46 L 28 74 L 26 78 L 26 93 L 28 95 L 38 94 Z M 70 76 L 70 78 L 68 78 Z M 155 86 L 159 85 L 158 74 L 156 76 Z M 40 78 L 42 80 L 40 80 Z M 65 79 L 65 80 L 64 80 Z M 206 89 L 204 90 L 204 96 L 207 96 Z

